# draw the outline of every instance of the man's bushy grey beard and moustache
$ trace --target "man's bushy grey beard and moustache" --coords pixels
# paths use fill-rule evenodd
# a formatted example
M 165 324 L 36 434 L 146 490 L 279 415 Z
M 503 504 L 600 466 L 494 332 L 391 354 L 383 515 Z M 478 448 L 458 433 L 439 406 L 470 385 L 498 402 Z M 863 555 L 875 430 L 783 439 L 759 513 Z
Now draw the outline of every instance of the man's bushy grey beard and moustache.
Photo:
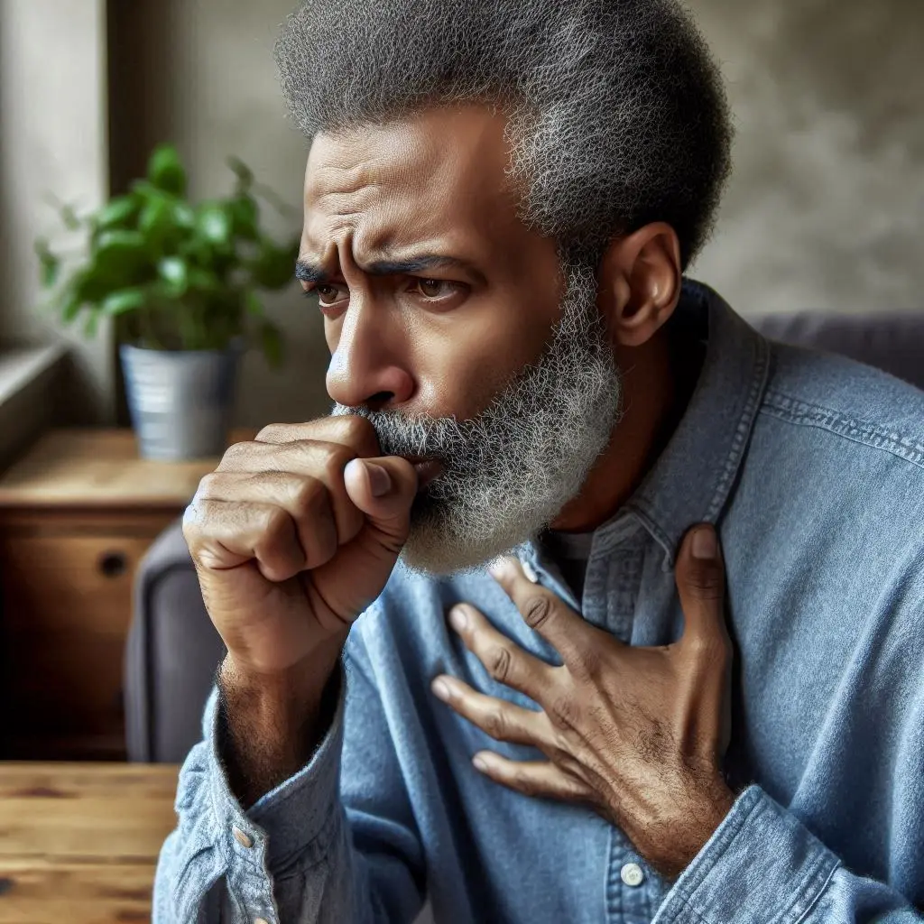
M 477 417 L 408 418 L 334 404 L 378 434 L 383 456 L 439 459 L 444 472 L 418 493 L 401 559 L 433 575 L 468 571 L 547 527 L 577 497 L 609 443 L 621 381 L 590 269 L 565 266 L 561 318 L 535 363 Z

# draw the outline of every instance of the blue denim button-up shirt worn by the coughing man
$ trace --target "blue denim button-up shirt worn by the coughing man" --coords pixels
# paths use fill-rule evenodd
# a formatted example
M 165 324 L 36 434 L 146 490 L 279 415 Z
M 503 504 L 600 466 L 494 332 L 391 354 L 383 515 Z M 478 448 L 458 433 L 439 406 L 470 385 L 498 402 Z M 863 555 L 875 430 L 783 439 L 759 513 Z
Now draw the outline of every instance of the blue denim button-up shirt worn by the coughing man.
M 772 344 L 705 286 L 694 395 L 632 499 L 594 533 L 583 599 L 528 543 L 543 585 L 632 645 L 679 637 L 675 552 L 718 525 L 736 646 L 736 802 L 663 881 L 590 809 L 470 764 L 499 744 L 435 699 L 447 672 L 521 705 L 447 628 L 472 602 L 556 656 L 486 572 L 395 569 L 346 644 L 346 693 L 310 762 L 243 811 L 204 740 L 180 773 L 154 920 L 452 924 L 919 921 L 924 906 L 924 393 Z M 237 829 L 237 832 L 236 832 Z M 243 842 L 243 843 L 242 843 Z M 632 865 L 634 864 L 634 866 Z

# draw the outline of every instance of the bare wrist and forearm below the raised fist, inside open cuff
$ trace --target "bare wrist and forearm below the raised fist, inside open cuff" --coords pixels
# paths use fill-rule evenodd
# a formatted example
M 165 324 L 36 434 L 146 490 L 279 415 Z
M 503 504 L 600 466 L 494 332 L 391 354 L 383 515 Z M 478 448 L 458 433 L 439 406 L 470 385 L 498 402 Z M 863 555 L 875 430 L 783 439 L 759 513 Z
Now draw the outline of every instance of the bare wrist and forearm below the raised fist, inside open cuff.
M 285 675 L 254 675 L 228 656 L 218 669 L 218 751 L 241 808 L 294 776 L 326 734 L 339 693 L 341 645 Z

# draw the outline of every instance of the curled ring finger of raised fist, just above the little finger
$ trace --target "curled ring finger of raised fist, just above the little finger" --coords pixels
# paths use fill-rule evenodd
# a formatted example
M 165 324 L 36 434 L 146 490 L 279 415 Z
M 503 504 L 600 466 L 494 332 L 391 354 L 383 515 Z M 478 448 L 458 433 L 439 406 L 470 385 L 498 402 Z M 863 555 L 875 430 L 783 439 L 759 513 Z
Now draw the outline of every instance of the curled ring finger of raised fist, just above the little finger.
M 292 518 L 306 569 L 329 562 L 337 552 L 337 528 L 331 494 L 320 479 L 287 471 L 213 472 L 200 481 L 193 500 L 268 504 Z

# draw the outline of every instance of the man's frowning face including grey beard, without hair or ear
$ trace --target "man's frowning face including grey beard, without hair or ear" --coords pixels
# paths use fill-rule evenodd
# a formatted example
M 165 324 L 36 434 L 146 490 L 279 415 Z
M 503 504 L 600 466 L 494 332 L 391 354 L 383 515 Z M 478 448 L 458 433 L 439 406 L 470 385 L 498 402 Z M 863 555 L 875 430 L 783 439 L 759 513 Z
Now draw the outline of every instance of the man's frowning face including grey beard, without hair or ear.
M 435 458 L 408 565 L 479 565 L 547 524 L 613 427 L 592 274 L 517 217 L 505 120 L 434 109 L 315 139 L 299 275 L 324 314 L 337 413 Z M 426 472 L 426 469 L 424 469 Z

